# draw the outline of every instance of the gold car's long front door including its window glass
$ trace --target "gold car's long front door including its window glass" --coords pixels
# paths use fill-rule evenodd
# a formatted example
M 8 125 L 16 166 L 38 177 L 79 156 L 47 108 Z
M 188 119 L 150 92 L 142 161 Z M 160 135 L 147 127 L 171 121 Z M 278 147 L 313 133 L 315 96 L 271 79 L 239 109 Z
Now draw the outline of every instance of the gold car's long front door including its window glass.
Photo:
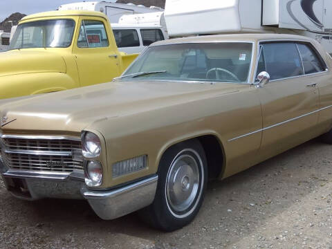
M 261 160 L 317 136 L 319 93 L 315 81 L 304 75 L 295 42 L 260 44 L 257 74 L 266 71 L 270 82 L 259 88 L 263 116 Z

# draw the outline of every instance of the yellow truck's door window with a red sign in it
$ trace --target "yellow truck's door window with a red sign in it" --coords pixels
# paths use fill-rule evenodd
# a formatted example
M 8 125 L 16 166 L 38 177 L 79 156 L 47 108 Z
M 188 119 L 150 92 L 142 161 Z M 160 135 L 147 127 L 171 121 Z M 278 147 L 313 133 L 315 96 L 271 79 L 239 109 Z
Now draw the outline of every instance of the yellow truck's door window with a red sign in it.
M 77 46 L 79 48 L 108 47 L 109 39 L 102 21 L 83 20 Z

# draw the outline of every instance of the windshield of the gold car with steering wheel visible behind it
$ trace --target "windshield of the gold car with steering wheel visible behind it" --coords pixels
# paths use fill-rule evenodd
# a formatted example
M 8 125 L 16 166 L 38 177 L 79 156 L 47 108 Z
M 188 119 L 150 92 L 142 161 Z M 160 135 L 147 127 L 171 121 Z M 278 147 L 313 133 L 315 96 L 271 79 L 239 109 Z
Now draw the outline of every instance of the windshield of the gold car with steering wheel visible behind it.
M 246 83 L 251 59 L 249 42 L 152 46 L 120 78 Z

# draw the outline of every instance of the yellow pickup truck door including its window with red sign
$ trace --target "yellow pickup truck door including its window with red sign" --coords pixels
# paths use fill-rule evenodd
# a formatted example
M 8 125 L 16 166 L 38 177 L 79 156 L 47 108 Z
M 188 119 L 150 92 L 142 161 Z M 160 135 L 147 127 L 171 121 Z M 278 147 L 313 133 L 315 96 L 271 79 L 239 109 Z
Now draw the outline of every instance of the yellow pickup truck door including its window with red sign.
M 110 82 L 120 75 L 119 54 L 104 19 L 84 17 L 75 39 L 76 57 L 81 86 Z

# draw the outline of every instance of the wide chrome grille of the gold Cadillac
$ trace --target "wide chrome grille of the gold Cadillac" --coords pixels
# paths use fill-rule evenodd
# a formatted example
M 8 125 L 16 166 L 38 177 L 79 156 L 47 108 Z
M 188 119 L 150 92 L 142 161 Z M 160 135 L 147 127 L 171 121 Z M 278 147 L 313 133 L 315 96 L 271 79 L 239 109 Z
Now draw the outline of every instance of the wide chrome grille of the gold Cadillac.
M 1 138 L 1 155 L 10 169 L 73 172 L 83 169 L 80 140 L 68 138 Z

